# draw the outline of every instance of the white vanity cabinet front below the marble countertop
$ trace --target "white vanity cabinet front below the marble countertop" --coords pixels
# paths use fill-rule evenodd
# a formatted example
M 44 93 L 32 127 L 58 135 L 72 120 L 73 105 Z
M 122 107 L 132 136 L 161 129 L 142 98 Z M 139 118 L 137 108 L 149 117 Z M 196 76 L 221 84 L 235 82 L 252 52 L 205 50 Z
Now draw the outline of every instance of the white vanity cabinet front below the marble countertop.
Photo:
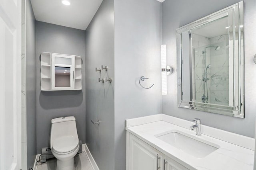
M 188 170 L 128 132 L 126 146 L 126 170 Z

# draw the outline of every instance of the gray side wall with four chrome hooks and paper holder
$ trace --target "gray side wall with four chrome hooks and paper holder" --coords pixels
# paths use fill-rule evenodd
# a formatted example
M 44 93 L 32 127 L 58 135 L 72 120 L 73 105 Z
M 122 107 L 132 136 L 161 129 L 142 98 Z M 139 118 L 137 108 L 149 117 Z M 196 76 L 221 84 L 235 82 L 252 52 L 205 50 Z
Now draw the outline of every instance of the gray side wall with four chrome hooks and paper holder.
M 108 70 L 96 72 L 101 65 Z M 103 0 L 86 29 L 86 144 L 100 170 L 114 169 L 114 82 L 114 0 Z

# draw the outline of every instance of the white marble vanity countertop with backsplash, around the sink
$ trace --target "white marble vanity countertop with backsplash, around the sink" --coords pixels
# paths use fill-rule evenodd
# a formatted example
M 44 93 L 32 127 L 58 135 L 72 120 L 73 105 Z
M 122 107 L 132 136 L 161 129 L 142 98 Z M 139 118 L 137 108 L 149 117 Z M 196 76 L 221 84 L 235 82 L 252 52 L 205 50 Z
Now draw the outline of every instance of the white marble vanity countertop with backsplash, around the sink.
M 173 122 L 175 122 L 176 125 L 174 125 Z M 193 125 L 190 121 L 163 114 L 126 120 L 126 130 L 128 132 L 142 139 L 144 142 L 160 152 L 163 152 L 183 166 L 186 166 L 188 169 L 253 170 L 253 138 L 207 127 L 205 125 L 201 127 L 202 133 L 204 134 L 197 136 L 195 131 L 188 129 L 190 125 Z M 199 141 L 214 143 L 219 146 L 219 149 L 203 158 L 196 158 L 156 138 L 156 136 L 161 133 L 168 133 L 173 130 L 186 133 L 190 136 L 192 135 Z

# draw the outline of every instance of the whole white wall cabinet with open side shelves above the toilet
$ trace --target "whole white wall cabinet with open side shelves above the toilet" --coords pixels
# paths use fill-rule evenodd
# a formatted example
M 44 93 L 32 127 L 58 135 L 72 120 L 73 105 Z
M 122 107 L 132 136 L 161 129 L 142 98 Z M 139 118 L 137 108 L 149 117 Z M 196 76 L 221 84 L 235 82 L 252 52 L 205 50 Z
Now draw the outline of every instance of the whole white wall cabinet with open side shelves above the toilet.
M 82 90 L 81 57 L 42 53 L 41 90 Z

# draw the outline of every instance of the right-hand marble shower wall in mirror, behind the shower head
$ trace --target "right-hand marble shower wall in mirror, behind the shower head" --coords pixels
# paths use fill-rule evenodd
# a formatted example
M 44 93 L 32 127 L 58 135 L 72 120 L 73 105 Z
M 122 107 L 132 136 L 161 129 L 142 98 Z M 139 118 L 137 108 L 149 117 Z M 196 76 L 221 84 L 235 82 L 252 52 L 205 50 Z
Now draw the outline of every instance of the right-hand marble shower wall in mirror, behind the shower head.
M 210 38 L 210 44 L 220 46 L 210 48 L 210 102 L 229 106 L 228 35 Z

